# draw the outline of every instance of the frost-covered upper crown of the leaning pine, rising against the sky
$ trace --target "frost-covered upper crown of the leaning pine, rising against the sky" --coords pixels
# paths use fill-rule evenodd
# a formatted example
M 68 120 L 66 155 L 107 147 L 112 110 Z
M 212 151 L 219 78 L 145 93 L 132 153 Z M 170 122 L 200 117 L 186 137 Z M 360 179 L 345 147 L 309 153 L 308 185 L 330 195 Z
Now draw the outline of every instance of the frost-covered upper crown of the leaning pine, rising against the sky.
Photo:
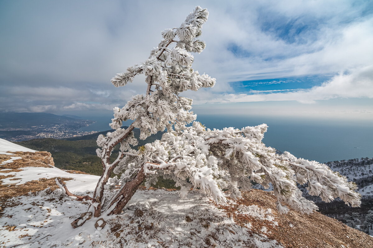
M 135 75 L 145 74 L 149 86 L 147 94 L 133 96 L 122 109 L 114 109 L 112 128 L 119 129 L 123 121 L 134 120 L 134 127 L 140 128 L 141 138 L 145 139 L 165 128 L 171 130 L 176 122 L 182 125 L 195 120 L 195 115 L 189 112 L 192 99 L 178 94 L 215 84 L 215 78 L 200 75 L 191 68 L 194 61 L 191 52 L 202 52 L 206 46 L 197 36 L 208 15 L 207 9 L 196 7 L 179 28 L 162 32 L 164 40 L 151 51 L 147 60 L 112 78 L 113 85 L 118 87 L 132 82 Z M 154 91 L 150 91 L 152 86 Z

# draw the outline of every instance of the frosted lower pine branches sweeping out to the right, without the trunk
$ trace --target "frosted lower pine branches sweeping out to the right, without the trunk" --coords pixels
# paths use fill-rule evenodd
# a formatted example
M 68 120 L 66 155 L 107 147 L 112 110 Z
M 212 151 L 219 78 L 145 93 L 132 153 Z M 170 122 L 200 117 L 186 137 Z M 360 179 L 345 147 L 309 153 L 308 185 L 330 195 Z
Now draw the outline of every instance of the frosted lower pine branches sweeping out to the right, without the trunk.
M 188 185 L 188 178 L 194 187 L 211 194 L 217 202 L 225 201 L 222 189 L 229 189 L 236 198 L 241 196 L 240 190 L 251 188 L 251 182 L 264 187 L 272 183 L 280 212 L 288 210 L 280 204 L 283 202 L 303 213 L 311 213 L 317 206 L 302 197 L 296 186 L 298 182 L 308 183 L 310 194 L 324 201 L 340 197 L 352 206 L 360 204 L 356 187 L 326 165 L 297 159 L 288 152 L 277 155 L 275 149 L 266 147 L 261 142 L 266 130 L 265 124 L 241 130 L 210 130 L 194 122 L 190 127 L 165 133 L 161 141 L 148 144 L 144 162 L 162 161 L 168 168 L 156 175 L 175 180 L 177 186 Z M 149 180 L 156 181 L 156 175 Z M 184 190 L 186 187 L 181 191 Z

